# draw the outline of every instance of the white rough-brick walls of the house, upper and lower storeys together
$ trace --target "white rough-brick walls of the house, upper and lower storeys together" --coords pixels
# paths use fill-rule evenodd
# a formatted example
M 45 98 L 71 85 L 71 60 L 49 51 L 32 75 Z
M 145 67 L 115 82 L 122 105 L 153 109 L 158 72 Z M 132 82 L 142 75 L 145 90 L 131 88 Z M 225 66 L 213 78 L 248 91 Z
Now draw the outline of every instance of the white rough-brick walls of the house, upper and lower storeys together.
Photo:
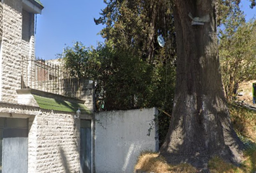
M 35 57 L 33 26 L 34 15 L 22 10 L 22 0 L 0 2 L 0 116 L 29 117 L 28 172 L 80 172 L 80 121 L 71 113 L 15 105 L 22 58 Z

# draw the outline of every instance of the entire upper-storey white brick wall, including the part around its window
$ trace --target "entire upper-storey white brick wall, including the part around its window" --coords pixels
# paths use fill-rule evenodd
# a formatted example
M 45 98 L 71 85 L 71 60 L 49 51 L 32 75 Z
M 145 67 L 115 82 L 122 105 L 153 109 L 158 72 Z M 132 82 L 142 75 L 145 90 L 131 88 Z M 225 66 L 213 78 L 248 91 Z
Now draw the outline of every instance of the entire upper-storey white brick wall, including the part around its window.
M 22 11 L 22 0 L 4 1 L 2 6 L 0 26 L 3 28 L 0 98 L 2 102 L 17 103 L 16 89 L 21 88 L 22 57 L 33 58 L 35 56 L 34 14 Z M 24 14 L 23 19 L 22 14 Z M 26 21 L 23 25 L 28 30 L 25 37 L 31 36 L 28 39 L 22 39 L 22 20 Z

